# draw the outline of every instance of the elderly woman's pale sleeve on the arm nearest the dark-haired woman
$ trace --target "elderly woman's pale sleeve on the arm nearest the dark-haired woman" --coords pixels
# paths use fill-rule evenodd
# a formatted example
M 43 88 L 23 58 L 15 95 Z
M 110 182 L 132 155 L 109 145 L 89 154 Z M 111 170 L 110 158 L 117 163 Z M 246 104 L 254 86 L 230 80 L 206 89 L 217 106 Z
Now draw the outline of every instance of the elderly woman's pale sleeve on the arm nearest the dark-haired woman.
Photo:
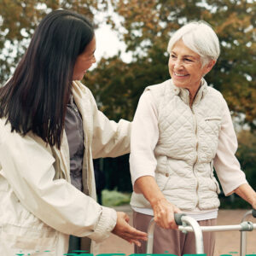
M 133 186 L 139 177 L 155 176 L 157 161 L 154 148 L 158 139 L 158 112 L 152 91 L 146 90 L 138 102 L 131 129 L 130 170 Z M 139 192 L 136 186 L 134 190 Z

